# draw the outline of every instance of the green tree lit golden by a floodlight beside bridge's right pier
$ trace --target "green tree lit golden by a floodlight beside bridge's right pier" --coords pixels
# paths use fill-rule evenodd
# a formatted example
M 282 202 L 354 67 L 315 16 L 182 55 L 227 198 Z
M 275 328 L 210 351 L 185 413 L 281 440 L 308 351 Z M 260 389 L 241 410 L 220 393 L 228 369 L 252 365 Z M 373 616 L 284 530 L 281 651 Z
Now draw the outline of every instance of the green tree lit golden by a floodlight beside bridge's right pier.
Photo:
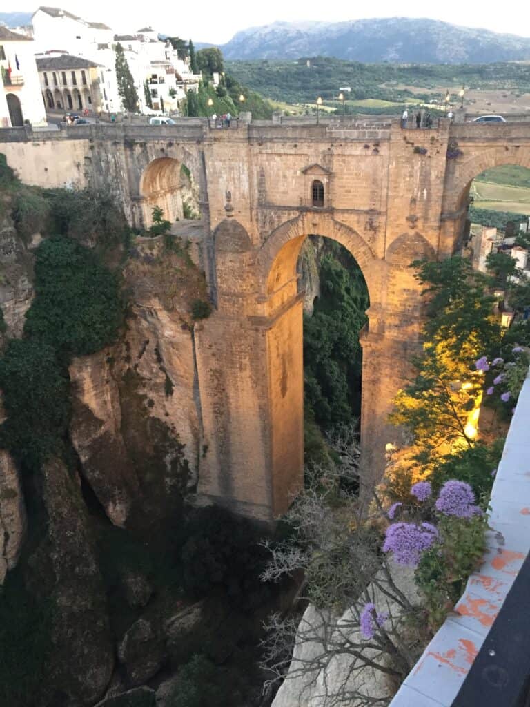
M 428 296 L 423 351 L 416 375 L 394 399 L 391 422 L 408 428 L 415 458 L 430 465 L 454 450 L 473 445 L 468 426 L 483 387 L 475 361 L 500 346 L 489 279 L 454 256 L 441 262 L 417 261 L 416 277 Z

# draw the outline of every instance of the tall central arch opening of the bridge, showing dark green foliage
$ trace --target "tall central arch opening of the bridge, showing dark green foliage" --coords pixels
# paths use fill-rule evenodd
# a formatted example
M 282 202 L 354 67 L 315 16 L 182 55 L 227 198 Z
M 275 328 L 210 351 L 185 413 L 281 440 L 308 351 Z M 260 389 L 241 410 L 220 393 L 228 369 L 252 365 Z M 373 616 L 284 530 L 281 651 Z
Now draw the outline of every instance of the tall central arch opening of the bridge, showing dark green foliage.
M 303 297 L 305 462 L 325 452 L 326 435 L 359 428 L 363 349 L 370 306 L 367 284 L 348 249 L 308 235 L 297 262 Z

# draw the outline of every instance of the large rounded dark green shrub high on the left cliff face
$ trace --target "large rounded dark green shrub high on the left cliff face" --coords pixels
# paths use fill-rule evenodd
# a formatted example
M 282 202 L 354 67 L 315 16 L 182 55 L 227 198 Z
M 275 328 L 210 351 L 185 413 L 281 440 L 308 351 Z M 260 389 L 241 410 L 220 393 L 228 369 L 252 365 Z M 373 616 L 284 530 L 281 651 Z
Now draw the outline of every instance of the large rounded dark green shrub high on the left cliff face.
M 64 236 L 41 243 L 26 336 L 66 356 L 93 354 L 114 341 L 121 317 L 117 276 L 95 252 Z

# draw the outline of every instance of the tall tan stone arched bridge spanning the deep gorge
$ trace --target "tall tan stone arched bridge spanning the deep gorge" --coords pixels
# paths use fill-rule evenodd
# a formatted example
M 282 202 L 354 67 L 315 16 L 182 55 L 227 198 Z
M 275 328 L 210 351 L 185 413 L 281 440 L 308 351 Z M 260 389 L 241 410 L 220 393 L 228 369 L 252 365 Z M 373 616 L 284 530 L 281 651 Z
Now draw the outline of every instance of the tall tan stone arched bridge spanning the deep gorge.
M 382 473 L 391 399 L 406 380 L 423 317 L 413 259 L 461 243 L 469 187 L 487 168 L 530 168 L 530 124 L 399 122 L 213 129 L 83 125 L 0 131 L 0 152 L 42 187 L 109 189 L 133 226 L 153 204 L 182 214 L 181 166 L 202 216 L 202 253 L 215 305 L 196 327 L 197 385 L 207 453 L 199 490 L 269 520 L 302 483 L 302 296 L 297 260 L 307 235 L 333 238 L 357 260 L 370 293 L 362 332 L 365 475 Z

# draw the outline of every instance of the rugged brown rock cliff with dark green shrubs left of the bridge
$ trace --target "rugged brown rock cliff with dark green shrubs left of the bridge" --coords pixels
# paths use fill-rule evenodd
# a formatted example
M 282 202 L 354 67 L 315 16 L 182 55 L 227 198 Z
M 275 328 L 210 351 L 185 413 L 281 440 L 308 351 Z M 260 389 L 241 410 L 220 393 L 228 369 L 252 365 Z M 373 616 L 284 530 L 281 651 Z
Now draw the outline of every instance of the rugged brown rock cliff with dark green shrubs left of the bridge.
M 262 530 L 189 502 L 192 249 L 1 160 L 0 271 L 0 705 L 254 699 Z

